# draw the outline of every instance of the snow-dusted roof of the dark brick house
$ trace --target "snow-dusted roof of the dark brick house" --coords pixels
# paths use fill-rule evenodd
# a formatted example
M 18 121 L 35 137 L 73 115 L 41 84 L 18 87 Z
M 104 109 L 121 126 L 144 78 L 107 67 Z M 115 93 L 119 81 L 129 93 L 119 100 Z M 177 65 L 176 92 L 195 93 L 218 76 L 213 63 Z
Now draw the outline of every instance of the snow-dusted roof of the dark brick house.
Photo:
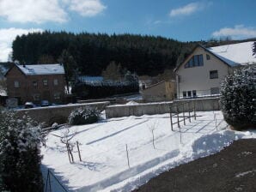
M 62 64 L 33 64 L 33 65 L 16 65 L 26 75 L 55 75 L 64 74 Z

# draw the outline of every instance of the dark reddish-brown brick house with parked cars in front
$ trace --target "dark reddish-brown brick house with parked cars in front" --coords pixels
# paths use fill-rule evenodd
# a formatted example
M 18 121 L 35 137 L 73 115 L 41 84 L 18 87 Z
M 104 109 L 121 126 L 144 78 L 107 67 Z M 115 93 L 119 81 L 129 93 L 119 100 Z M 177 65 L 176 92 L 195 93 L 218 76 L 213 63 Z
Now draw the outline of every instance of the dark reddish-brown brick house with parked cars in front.
M 9 99 L 18 99 L 19 105 L 27 101 L 40 104 L 64 102 L 64 66 L 62 64 L 15 64 L 5 74 Z

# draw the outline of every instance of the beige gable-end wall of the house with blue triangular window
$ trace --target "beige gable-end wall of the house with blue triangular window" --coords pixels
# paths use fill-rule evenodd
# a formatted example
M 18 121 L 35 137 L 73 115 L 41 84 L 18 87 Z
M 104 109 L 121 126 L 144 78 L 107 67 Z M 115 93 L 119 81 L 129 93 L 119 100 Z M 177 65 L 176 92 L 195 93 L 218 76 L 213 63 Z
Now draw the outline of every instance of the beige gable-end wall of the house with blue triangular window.
M 185 68 L 185 64 L 194 55 L 203 55 L 204 66 L 198 66 L 193 68 Z M 210 60 L 206 59 L 206 54 L 210 55 Z M 217 79 L 210 79 L 210 70 L 218 71 Z M 223 63 L 219 58 L 205 51 L 203 48 L 198 47 L 192 52 L 190 57 L 186 58 L 186 61 L 180 65 L 180 68 L 176 71 L 177 77 L 177 96 L 183 97 L 183 92 L 192 90 L 197 91 L 197 96 L 210 94 L 210 88 L 219 87 L 223 78 L 231 72 L 232 69 Z M 178 75 L 180 75 L 180 82 L 178 81 Z

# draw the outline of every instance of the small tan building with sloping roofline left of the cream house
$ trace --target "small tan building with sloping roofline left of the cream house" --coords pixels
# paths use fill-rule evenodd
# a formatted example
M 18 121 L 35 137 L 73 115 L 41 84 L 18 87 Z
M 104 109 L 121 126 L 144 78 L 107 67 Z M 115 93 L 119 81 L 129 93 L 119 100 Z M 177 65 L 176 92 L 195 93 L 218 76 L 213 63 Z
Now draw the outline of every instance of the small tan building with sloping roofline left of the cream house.
M 142 90 L 143 100 L 146 102 L 173 100 L 175 94 L 175 81 L 161 81 Z

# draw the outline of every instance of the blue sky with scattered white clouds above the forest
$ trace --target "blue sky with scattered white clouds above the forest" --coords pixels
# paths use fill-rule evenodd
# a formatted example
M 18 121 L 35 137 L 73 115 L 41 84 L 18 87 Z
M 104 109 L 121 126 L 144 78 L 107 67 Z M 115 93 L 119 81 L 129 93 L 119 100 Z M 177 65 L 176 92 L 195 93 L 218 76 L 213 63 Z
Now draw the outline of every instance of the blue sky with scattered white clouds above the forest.
M 256 37 L 255 0 L 0 0 L 0 61 L 17 34 L 133 33 L 180 41 Z

